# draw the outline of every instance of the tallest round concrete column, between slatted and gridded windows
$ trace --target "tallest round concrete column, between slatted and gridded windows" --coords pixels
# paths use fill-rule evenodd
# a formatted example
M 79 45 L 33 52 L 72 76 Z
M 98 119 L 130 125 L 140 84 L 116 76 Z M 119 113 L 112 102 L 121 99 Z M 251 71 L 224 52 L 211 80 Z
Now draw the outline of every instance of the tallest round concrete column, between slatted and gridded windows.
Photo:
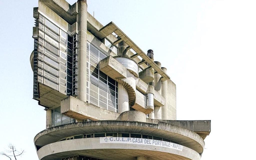
M 86 0 L 78 0 L 78 99 L 86 102 L 86 61 L 87 61 L 87 3 Z

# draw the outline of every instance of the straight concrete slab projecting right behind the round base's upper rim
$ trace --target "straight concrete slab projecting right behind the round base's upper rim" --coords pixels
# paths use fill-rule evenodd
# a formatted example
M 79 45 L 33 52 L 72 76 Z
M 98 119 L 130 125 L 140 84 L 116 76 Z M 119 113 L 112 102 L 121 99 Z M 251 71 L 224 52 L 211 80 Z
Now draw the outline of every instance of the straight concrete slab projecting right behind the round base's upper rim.
M 200 135 L 203 139 L 211 132 L 211 120 L 195 120 L 195 121 L 177 121 L 177 120 L 156 120 L 146 119 L 147 123 L 158 124 L 159 122 L 170 123 L 180 127 L 184 127 Z

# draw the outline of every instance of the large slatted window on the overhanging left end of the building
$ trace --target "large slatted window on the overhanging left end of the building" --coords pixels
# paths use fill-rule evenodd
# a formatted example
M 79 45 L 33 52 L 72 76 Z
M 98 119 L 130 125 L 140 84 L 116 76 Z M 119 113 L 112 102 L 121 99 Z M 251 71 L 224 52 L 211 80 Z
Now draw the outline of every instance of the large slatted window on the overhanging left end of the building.
M 67 94 L 67 33 L 40 14 L 36 25 L 37 81 Z

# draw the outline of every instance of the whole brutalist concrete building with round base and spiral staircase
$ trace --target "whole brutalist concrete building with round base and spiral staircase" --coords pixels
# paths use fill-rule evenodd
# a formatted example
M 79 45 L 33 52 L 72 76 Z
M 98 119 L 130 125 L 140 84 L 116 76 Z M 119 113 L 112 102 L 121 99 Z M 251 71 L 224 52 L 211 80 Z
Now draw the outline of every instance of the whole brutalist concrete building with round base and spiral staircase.
M 34 138 L 40 160 L 201 158 L 211 122 L 176 120 L 176 85 L 153 50 L 100 24 L 86 0 L 39 0 L 34 18 L 33 99 L 46 111 Z

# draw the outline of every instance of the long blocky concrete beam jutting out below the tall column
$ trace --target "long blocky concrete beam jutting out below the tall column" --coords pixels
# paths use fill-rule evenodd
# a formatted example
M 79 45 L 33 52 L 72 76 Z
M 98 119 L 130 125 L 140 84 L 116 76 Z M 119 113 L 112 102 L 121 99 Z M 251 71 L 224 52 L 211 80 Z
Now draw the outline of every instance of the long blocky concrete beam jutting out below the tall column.
M 120 115 L 72 96 L 61 101 L 61 113 L 77 120 L 115 120 Z

